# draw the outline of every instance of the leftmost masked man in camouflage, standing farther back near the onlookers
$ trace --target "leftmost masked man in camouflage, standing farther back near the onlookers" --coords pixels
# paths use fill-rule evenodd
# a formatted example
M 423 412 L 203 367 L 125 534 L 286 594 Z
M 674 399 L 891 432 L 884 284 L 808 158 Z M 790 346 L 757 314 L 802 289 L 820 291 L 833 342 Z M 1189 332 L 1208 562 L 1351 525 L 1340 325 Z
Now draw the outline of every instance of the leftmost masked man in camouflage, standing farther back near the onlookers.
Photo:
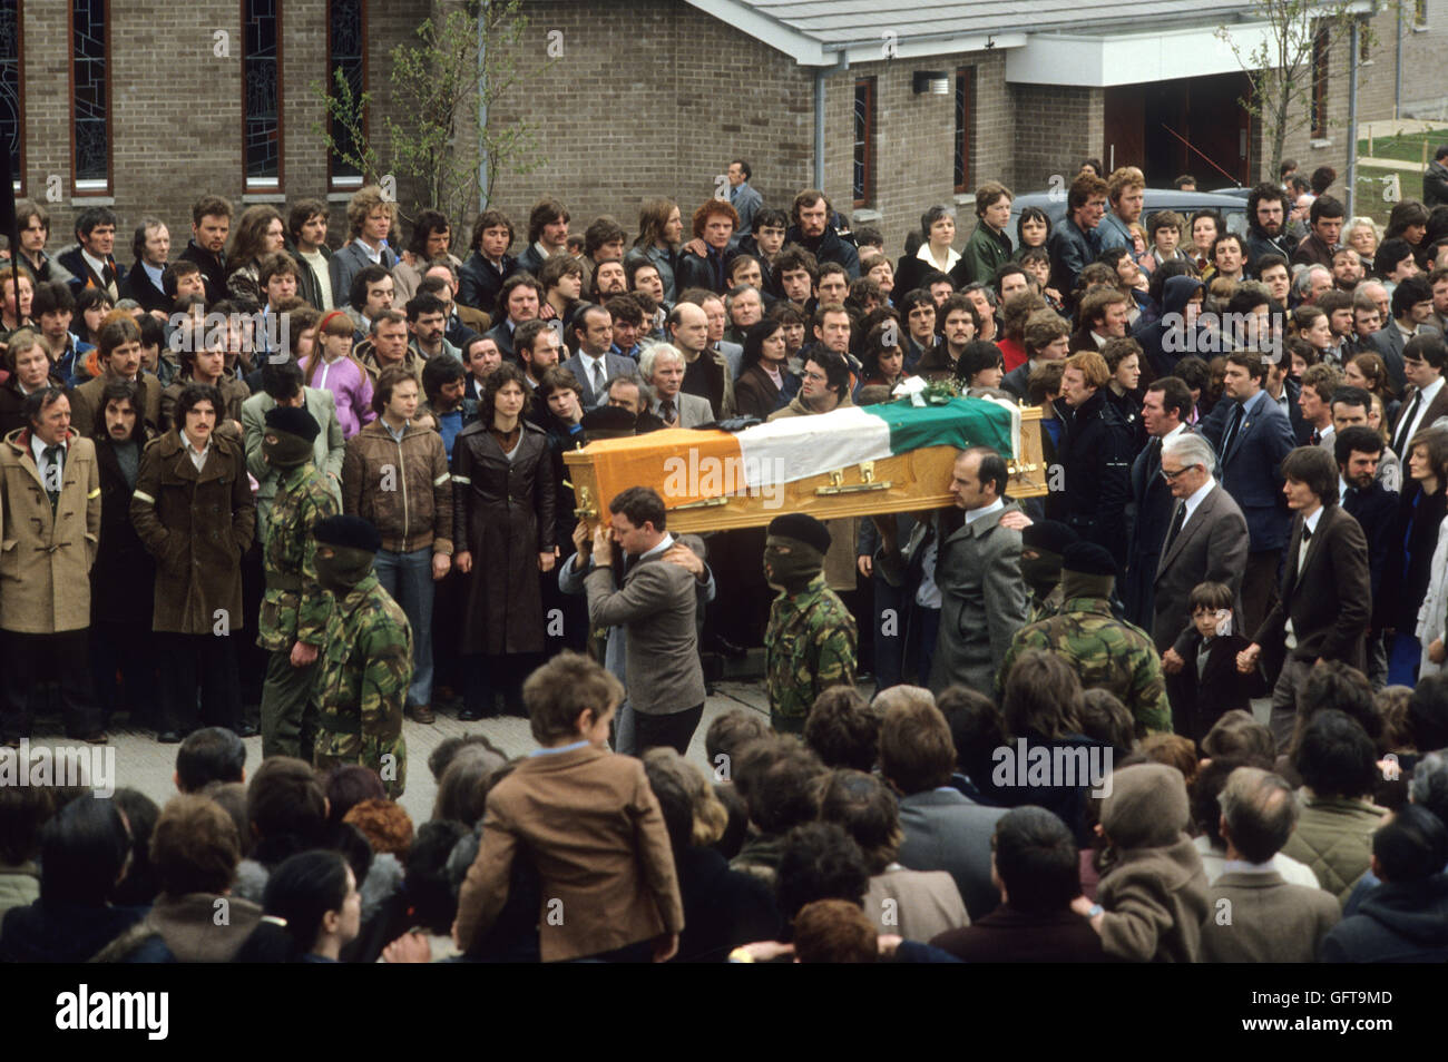
M 307 702 L 332 598 L 317 583 L 311 530 L 337 515 L 330 486 L 311 463 L 320 431 L 306 409 L 278 405 L 266 411 L 262 460 L 277 470 L 277 495 L 262 550 L 266 595 L 256 634 L 256 644 L 271 651 L 262 684 L 262 757 L 310 760 L 317 736 Z

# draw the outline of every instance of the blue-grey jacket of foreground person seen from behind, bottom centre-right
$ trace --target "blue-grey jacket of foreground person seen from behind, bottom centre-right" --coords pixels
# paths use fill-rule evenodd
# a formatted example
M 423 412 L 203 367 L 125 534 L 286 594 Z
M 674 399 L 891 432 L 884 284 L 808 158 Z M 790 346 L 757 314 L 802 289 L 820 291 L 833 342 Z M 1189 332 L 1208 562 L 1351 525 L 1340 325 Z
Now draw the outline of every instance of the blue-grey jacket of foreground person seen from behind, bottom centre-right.
M 990 836 L 1008 807 L 972 803 L 959 790 L 937 789 L 901 799 L 896 861 L 909 870 L 943 870 L 956 880 L 972 922 L 995 910 L 1001 894 L 990 884 Z

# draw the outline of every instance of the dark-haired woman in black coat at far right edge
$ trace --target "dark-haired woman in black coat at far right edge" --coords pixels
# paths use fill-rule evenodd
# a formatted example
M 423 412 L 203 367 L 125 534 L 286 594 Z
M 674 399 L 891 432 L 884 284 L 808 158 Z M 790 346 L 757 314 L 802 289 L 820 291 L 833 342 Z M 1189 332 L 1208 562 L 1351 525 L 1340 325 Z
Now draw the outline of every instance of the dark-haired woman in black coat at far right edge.
M 1448 434 L 1419 431 L 1409 440 L 1403 463 L 1406 475 L 1392 540 L 1402 545 L 1402 553 L 1389 556 L 1378 587 L 1378 625 L 1394 632 L 1387 658 L 1390 686 L 1413 686 L 1422 661 L 1415 637 L 1418 609 L 1432 577 L 1438 528 L 1448 515 Z

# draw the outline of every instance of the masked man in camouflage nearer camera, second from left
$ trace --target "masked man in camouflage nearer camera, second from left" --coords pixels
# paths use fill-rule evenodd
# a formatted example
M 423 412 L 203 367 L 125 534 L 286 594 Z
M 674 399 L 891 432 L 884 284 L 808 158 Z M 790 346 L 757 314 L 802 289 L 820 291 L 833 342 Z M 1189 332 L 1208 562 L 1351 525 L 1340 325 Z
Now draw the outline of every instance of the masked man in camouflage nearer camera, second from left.
M 361 517 L 329 517 L 313 534 L 317 582 L 336 599 L 314 689 L 313 764 L 368 767 L 397 800 L 407 787 L 403 706 L 413 681 L 413 631 L 372 572 L 382 545 L 375 527 Z

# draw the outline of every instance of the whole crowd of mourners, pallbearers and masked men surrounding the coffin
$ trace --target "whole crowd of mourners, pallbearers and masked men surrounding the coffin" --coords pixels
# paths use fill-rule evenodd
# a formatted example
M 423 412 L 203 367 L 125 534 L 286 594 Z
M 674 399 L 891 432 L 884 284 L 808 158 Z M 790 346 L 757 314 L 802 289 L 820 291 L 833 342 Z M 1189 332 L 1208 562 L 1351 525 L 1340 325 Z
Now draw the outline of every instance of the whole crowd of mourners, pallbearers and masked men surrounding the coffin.
M 688 234 L 546 197 L 515 258 L 366 187 L 340 249 L 204 195 L 127 271 L 110 210 L 51 258 L 22 203 L 0 742 L 129 712 L 181 794 L 0 787 L 0 958 L 1448 958 L 1448 205 L 1378 240 L 1281 177 L 1245 233 L 1095 161 L 1009 233 L 989 181 L 893 262 L 743 159 Z M 1040 407 L 1044 496 L 975 446 L 940 512 L 575 514 L 588 441 L 911 378 Z M 708 664 L 759 645 L 704 773 Z M 414 833 L 437 710 L 540 748 L 445 742 Z

